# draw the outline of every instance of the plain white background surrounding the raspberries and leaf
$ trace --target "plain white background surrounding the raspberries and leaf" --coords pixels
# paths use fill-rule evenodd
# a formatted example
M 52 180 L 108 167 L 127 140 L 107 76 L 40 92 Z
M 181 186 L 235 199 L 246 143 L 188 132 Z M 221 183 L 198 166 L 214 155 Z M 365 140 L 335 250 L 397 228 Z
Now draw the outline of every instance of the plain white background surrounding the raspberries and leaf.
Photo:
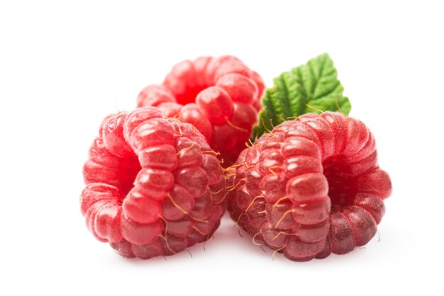
M 438 1 L 9 2 L 0 4 L 1 295 L 444 292 Z M 193 258 L 138 261 L 91 236 L 79 210 L 82 164 L 105 115 L 131 110 L 182 59 L 236 55 L 272 86 L 322 52 L 392 176 L 380 241 L 272 261 L 225 219 L 206 251 L 189 249 Z

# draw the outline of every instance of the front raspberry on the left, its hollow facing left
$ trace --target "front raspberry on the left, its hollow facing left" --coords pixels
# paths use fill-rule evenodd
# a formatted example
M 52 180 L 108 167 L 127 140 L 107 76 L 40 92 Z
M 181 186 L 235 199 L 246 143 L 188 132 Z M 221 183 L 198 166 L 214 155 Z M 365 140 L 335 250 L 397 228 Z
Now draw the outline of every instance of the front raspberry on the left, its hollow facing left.
M 157 108 L 109 115 L 84 164 L 87 227 L 130 258 L 206 241 L 226 210 L 215 154 L 193 125 L 165 119 Z

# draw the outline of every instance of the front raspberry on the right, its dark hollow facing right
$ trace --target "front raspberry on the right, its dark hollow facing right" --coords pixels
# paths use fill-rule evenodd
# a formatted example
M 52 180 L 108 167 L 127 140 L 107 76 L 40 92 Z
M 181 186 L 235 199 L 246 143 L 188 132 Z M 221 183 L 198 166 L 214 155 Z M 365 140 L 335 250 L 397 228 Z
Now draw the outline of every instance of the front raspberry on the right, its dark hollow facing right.
M 301 115 L 227 169 L 233 220 L 294 261 L 345 254 L 374 236 L 392 192 L 374 137 L 340 113 Z

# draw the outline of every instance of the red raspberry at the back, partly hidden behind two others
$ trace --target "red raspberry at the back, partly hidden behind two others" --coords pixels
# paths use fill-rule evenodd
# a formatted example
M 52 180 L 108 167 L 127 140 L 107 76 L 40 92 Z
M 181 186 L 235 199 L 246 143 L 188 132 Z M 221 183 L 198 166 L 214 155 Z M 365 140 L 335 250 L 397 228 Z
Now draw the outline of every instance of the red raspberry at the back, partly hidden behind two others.
M 257 122 L 264 88 L 259 74 L 236 57 L 199 57 L 174 66 L 162 85 L 143 89 L 137 106 L 155 106 L 165 117 L 192 123 L 229 166 Z

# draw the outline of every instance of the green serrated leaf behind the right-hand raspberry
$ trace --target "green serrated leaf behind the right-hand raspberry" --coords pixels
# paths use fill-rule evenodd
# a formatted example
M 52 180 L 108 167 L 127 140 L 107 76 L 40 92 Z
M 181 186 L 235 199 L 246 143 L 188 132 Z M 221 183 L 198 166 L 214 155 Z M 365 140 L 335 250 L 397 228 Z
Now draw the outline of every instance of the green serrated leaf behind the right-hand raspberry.
M 333 60 L 326 53 L 277 76 L 274 86 L 266 89 L 262 96 L 263 109 L 258 125 L 253 128 L 252 140 L 284 119 L 294 119 L 305 113 L 339 111 L 339 106 L 340 111 L 348 115 L 352 106 L 343 96 L 344 88 L 337 76 Z

